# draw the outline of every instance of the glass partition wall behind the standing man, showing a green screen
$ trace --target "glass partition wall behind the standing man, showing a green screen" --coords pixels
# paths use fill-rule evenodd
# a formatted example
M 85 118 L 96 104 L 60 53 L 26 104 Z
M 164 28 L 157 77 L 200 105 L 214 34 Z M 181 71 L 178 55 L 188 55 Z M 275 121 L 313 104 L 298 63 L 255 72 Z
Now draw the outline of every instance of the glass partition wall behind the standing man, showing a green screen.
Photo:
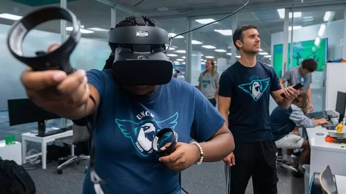
M 190 49 L 187 61 L 187 81 L 198 84 L 198 76 L 204 70 L 207 58 L 226 67 L 240 56 L 234 49 L 232 33 L 236 27 L 253 24 L 258 28 L 261 50 L 257 59 L 271 65 L 281 78 L 290 68 L 301 65 L 304 59 L 312 58 L 318 63 L 312 73 L 311 101 L 314 111 L 323 107 L 323 67 L 329 60 L 346 58 L 346 3 L 339 5 L 314 5 L 300 7 L 277 7 L 270 9 L 244 9 L 216 24 L 193 31 L 186 49 Z M 204 16 L 189 16 L 188 27 L 193 29 L 224 17 L 228 13 Z M 224 69 L 222 69 L 224 70 Z M 222 73 L 222 71 L 220 72 Z M 276 107 L 270 100 L 270 112 Z

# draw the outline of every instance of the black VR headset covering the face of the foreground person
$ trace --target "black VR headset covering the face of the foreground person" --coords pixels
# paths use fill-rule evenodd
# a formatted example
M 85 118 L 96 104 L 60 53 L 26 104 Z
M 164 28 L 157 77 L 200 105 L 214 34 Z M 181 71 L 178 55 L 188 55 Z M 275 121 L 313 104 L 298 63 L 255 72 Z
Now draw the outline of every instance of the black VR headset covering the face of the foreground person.
M 165 46 L 171 44 L 170 34 L 164 29 L 147 26 L 143 16 L 135 20 L 136 26 L 113 28 L 108 32 L 108 41 L 115 46 L 115 82 L 128 85 L 170 82 L 173 64 L 166 56 Z

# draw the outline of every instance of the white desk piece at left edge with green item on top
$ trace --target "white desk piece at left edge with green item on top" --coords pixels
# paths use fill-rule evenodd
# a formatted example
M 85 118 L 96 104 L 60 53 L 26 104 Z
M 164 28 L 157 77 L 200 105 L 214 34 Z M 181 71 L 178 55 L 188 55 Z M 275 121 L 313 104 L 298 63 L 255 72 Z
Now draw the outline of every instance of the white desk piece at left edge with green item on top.
M 5 160 L 13 160 L 18 165 L 22 165 L 22 149 L 20 142 L 6 145 L 5 140 L 0 141 L 0 157 Z

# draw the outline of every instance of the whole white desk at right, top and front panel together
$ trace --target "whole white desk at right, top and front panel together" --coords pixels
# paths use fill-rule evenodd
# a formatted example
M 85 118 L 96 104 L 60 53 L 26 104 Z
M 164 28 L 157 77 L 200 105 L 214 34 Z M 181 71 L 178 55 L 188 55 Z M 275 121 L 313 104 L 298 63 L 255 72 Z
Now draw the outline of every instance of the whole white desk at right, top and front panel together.
M 330 166 L 333 174 L 346 176 L 346 148 L 342 148 L 337 143 L 326 142 L 324 138 L 328 131 L 321 126 L 306 129 L 311 147 L 309 180 L 314 172 L 322 172 L 327 165 Z M 316 135 L 316 133 L 323 135 Z

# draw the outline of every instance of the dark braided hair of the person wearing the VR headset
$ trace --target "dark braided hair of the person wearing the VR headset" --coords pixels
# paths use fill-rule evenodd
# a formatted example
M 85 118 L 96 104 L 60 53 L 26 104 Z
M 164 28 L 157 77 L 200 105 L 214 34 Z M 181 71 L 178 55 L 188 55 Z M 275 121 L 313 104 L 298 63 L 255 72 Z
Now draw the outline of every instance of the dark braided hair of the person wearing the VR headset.
M 156 26 L 156 21 L 147 17 L 147 16 L 143 16 L 144 22 L 147 23 L 147 26 L 153 26 L 153 27 L 157 27 Z M 124 20 L 120 21 L 115 27 L 116 28 L 120 28 L 120 27 L 125 27 L 125 26 L 136 26 L 137 22 L 135 20 L 135 16 L 130 16 L 125 18 Z M 113 28 L 111 28 L 112 30 Z M 112 42 L 108 42 L 109 46 L 111 47 L 112 53 L 109 55 L 109 58 L 106 60 L 106 64 L 104 65 L 103 69 L 112 69 L 113 66 L 113 62 L 115 59 L 114 56 L 114 52 L 115 52 L 115 44 Z

